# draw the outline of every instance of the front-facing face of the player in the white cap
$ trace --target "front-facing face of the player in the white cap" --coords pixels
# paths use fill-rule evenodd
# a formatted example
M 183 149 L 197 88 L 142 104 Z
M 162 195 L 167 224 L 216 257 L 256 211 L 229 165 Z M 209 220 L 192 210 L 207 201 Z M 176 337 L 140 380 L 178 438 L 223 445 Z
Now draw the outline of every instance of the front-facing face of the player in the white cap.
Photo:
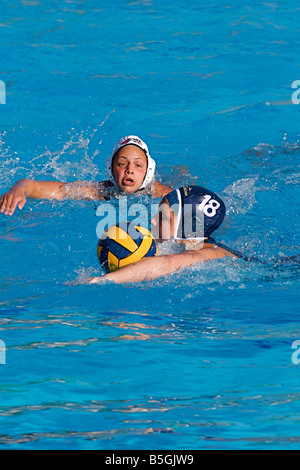
M 126 145 L 113 158 L 113 177 L 121 191 L 135 193 L 142 185 L 147 172 L 147 157 L 135 145 Z

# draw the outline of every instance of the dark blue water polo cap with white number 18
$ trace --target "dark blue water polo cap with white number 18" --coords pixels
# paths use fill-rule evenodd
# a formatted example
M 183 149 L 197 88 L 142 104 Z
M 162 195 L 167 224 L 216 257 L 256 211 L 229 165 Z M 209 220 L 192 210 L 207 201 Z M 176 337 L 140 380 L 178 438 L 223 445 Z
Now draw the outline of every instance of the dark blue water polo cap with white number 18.
M 167 201 L 177 215 L 174 239 L 207 239 L 223 222 L 225 204 L 214 192 L 202 186 L 183 186 L 175 189 Z

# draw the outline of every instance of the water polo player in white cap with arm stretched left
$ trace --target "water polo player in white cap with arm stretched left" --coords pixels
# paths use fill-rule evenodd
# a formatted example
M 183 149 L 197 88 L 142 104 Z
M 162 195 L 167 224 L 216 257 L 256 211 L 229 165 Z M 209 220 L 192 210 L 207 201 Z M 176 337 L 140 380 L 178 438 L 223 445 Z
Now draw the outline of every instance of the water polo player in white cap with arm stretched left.
M 27 198 L 32 199 L 110 199 L 116 193 L 145 192 L 162 197 L 172 188 L 155 181 L 155 161 L 145 142 L 131 135 L 115 145 L 106 161 L 108 180 L 100 182 L 64 183 L 59 181 L 19 180 L 0 199 L 0 212 L 13 215 L 16 207 L 23 209 Z

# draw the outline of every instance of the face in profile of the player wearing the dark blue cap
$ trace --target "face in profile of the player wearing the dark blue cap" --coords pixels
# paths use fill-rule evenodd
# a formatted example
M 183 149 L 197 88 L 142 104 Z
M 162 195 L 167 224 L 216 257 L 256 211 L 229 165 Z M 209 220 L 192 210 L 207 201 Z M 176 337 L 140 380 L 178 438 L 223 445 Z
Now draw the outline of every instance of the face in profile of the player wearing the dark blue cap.
M 170 240 L 174 235 L 176 216 L 169 203 L 163 199 L 159 205 L 158 213 L 150 220 L 151 231 L 159 243 Z

